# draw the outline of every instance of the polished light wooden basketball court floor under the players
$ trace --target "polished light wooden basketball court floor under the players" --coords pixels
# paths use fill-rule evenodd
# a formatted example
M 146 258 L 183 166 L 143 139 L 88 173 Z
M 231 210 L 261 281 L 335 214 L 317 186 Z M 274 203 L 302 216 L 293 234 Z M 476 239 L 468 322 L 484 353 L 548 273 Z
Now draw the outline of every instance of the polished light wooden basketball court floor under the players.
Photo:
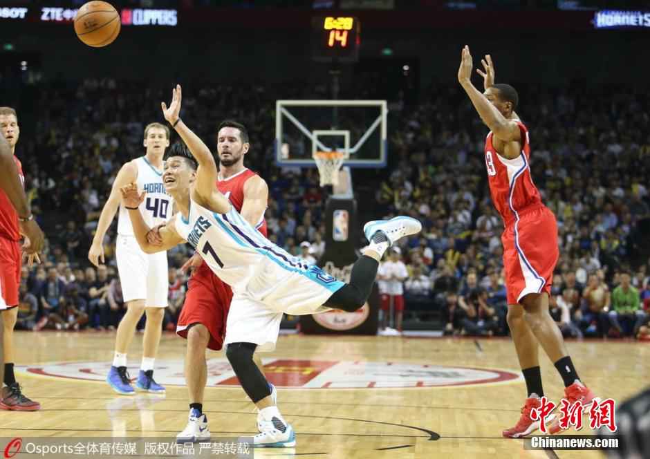
M 105 382 L 66 373 L 74 364 L 43 365 L 84 362 L 81 367 L 89 368 L 75 367 L 79 377 L 97 373 L 92 362 L 110 364 L 114 338 L 110 332 L 17 332 L 17 364 L 26 366 L 17 368 L 17 379 L 43 409 L 0 411 L 0 437 L 175 438 L 187 422 L 185 387 L 167 384 L 165 395 L 126 397 L 113 393 Z M 647 384 L 647 344 L 570 341 L 568 348 L 582 379 L 602 397 L 621 402 Z M 131 349 L 129 371 L 134 377 L 142 335 Z M 169 377 L 182 376 L 179 362 L 184 355 L 185 341 L 165 333 L 156 363 L 158 382 L 165 384 L 158 377 L 160 367 L 167 367 Z M 210 353 L 208 358 L 221 362 L 223 354 Z M 346 366 L 337 363 L 342 361 Z M 517 421 L 525 394 L 508 339 L 284 335 L 265 365 L 278 386 L 293 386 L 279 387 L 279 408 L 293 424 L 297 447 L 256 449 L 257 458 L 603 457 L 597 451 L 528 451 L 522 440 L 501 437 L 501 430 Z M 327 365 L 343 370 L 323 370 Z M 546 395 L 558 402 L 561 380 L 546 357 L 542 368 Z M 429 386 L 445 380 L 456 385 Z M 219 386 L 210 386 L 209 380 L 205 393 L 212 437 L 257 433 L 254 406 L 239 386 L 224 383 L 233 384 L 232 378 Z M 309 384 L 315 388 L 305 388 Z

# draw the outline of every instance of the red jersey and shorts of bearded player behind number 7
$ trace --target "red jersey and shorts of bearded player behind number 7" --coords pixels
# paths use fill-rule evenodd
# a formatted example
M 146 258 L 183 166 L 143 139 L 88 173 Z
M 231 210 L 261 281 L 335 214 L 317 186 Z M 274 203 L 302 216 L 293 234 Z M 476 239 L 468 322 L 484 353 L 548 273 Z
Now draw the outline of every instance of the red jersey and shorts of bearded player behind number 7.
M 216 187 L 234 205 L 237 212 L 241 212 L 244 195 L 243 187 L 249 178 L 257 176 L 250 169 L 235 174 L 232 177 L 218 180 Z M 266 220 L 262 216 L 255 226 L 261 234 L 266 236 Z M 210 341 L 207 347 L 220 350 L 225 337 L 225 324 L 232 300 L 230 286 L 223 283 L 214 272 L 208 268 L 205 261 L 194 270 L 188 282 L 187 296 L 183 309 L 178 317 L 176 333 L 187 338 L 187 328 L 192 324 L 203 324 L 210 331 Z

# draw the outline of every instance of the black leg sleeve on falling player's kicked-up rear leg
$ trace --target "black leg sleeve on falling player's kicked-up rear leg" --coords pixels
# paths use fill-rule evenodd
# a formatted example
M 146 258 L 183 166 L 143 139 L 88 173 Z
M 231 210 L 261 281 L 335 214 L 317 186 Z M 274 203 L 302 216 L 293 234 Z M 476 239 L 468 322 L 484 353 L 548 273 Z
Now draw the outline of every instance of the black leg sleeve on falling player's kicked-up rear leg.
M 325 302 L 328 308 L 353 312 L 361 308 L 373 290 L 379 262 L 370 256 L 362 256 L 354 263 L 350 283 L 334 292 Z

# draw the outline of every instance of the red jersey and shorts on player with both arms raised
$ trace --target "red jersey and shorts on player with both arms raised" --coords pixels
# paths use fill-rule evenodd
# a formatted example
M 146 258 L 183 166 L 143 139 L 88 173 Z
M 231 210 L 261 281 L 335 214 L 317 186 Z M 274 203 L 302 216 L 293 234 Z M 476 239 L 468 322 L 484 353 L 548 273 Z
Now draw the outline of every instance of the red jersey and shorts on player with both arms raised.
M 521 131 L 521 154 L 512 160 L 496 153 L 492 132 L 485 139 L 485 165 L 490 194 L 505 229 L 503 266 L 508 304 L 516 304 L 529 293 L 547 292 L 553 284 L 553 270 L 559 258 L 555 215 L 541 202 L 530 176 L 530 138 Z

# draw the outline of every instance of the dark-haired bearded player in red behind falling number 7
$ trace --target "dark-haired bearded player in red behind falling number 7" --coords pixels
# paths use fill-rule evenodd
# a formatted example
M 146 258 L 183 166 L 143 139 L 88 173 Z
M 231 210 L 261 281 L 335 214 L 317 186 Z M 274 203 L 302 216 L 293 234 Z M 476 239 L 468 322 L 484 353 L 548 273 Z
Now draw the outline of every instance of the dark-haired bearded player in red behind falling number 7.
M 263 178 L 244 167 L 243 158 L 248 149 L 248 131 L 242 124 L 224 121 L 219 125 L 219 177 L 216 187 L 246 221 L 266 236 L 264 211 L 268 202 L 268 186 Z M 187 269 L 190 265 L 195 269 L 189 279 L 189 290 L 176 328 L 178 335 L 187 338 L 185 379 L 189 391 L 189 422 L 185 430 L 178 434 L 179 441 L 210 438 L 203 415 L 203 391 L 207 380 L 205 349 L 221 349 L 232 299 L 230 286 L 216 277 L 201 256 L 196 254 L 183 268 Z M 257 356 L 255 363 L 263 372 Z M 272 391 L 275 395 L 275 390 Z

